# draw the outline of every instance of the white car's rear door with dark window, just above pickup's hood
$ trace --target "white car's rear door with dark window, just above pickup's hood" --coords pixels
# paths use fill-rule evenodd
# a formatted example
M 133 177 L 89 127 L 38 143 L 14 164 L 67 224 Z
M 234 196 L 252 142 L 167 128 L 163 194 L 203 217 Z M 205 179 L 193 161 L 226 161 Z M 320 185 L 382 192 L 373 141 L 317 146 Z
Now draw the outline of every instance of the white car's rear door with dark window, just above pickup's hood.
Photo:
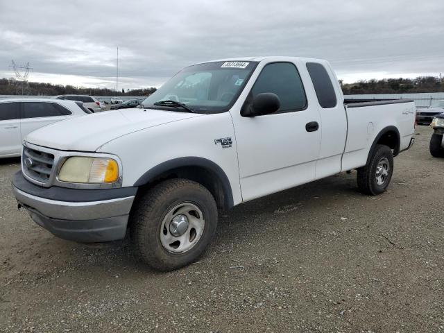
M 66 119 L 69 114 L 71 112 L 58 103 L 22 102 L 22 140 L 33 130 Z

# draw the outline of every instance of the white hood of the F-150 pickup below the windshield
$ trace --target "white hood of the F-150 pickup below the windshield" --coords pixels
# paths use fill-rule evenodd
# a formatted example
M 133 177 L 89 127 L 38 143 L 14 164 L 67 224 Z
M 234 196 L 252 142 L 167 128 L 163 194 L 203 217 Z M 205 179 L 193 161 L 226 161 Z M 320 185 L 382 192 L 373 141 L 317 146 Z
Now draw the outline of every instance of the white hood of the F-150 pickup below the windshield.
M 152 109 L 120 109 L 58 121 L 28 134 L 25 141 L 62 151 L 96 151 L 117 137 L 204 114 Z

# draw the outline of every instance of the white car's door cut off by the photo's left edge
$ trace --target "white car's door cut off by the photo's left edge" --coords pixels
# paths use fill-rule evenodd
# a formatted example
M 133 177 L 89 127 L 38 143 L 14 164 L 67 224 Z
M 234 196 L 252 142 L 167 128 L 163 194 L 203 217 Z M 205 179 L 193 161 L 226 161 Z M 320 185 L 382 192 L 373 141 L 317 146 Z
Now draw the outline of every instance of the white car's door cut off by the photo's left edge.
M 0 156 L 17 155 L 22 150 L 18 102 L 0 103 Z

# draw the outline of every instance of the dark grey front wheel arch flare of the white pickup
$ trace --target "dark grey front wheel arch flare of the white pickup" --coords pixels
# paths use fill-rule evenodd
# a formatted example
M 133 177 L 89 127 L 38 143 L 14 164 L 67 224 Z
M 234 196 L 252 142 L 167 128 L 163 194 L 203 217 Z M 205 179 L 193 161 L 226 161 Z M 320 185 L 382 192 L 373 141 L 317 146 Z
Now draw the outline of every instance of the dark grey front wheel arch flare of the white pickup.
M 157 164 L 146 171 L 134 184 L 136 187 L 151 187 L 170 178 L 185 178 L 206 187 L 219 208 L 228 210 L 234 206 L 230 180 L 218 164 L 203 157 L 178 157 Z

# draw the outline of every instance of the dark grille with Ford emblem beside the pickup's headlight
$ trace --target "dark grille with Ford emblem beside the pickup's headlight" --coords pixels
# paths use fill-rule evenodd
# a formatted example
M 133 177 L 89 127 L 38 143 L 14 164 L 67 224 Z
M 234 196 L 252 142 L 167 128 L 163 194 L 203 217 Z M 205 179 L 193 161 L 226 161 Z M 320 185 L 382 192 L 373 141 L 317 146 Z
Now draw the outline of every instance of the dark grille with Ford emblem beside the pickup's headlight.
M 37 182 L 48 182 L 54 164 L 54 155 L 37 151 L 28 147 L 23 148 L 22 168 L 26 176 Z

